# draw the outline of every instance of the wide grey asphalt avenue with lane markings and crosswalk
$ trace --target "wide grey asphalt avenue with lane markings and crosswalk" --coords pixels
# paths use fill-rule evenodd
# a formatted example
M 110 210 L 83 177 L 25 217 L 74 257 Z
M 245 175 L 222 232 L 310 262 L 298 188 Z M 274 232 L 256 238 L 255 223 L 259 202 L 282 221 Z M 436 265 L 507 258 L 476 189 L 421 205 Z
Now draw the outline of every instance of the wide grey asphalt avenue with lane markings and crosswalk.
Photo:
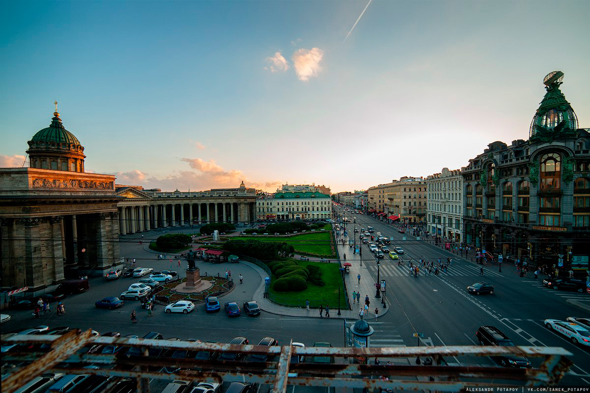
M 479 326 L 493 325 L 509 336 L 516 345 L 561 346 L 572 352 L 574 362 L 571 371 L 562 380 L 562 385 L 590 384 L 590 348 L 574 345 L 565 336 L 549 331 L 543 321 L 547 318 L 565 320 L 568 316 L 582 316 L 585 313 L 566 303 L 566 299 L 589 299 L 588 293 L 556 291 L 544 288 L 542 278 L 519 278 L 516 268 L 504 263 L 500 273 L 498 265 L 484 266 L 483 278 L 479 275 L 480 265 L 468 262 L 441 247 L 417 240 L 407 233 L 398 233 L 397 227 L 386 224 L 365 214 L 351 214 L 355 223 L 346 224 L 349 236 L 356 226 L 372 226 L 376 232 L 391 239 L 391 246 L 405 250 L 405 262 L 419 263 L 421 258 L 446 260 L 453 258 L 448 273 L 418 278 L 409 275 L 409 267 L 396 266 L 397 262 L 385 256 L 379 267 L 379 278 L 387 281 L 389 312 L 379 322 L 381 329 L 391 331 L 405 345 L 418 345 L 414 332 L 424 333 L 419 345 L 474 345 L 475 332 Z M 377 279 L 375 258 L 367 245 L 363 245 L 363 263 L 369 266 L 373 278 Z M 391 249 L 391 247 L 390 247 Z M 493 295 L 469 295 L 468 285 L 484 280 L 494 286 Z M 374 294 L 373 294 L 374 295 Z M 373 299 L 372 299 L 373 300 Z M 375 299 L 376 300 L 376 299 Z M 375 345 L 373 342 L 372 346 Z M 379 343 L 380 344 L 380 343 Z M 383 345 L 385 346 L 385 345 Z M 489 358 L 467 358 L 458 356 L 447 359 L 450 363 L 494 364 Z M 533 360 L 538 366 L 539 360 Z

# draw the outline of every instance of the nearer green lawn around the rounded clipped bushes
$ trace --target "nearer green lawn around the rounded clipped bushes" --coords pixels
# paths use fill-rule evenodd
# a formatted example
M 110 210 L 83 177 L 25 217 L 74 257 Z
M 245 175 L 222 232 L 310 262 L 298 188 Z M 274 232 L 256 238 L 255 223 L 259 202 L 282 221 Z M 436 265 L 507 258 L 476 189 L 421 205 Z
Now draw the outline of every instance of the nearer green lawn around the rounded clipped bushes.
M 293 260 L 300 266 L 315 265 L 322 270 L 322 279 L 326 283 L 325 286 L 317 286 L 309 281 L 307 282 L 307 289 L 300 292 L 276 292 L 273 288 L 269 290 L 269 298 L 276 303 L 287 306 L 305 307 L 305 300 L 309 299 L 310 307 L 319 308 L 320 304 L 326 307 L 330 306 L 330 313 L 336 313 L 338 310 L 338 288 L 340 287 L 340 307 L 346 308 L 346 295 L 342 287 L 342 278 L 340 277 L 339 263 L 325 263 L 325 262 L 306 262 L 295 259 Z M 272 276 L 271 283 L 277 278 Z M 271 284 L 272 287 L 272 284 Z

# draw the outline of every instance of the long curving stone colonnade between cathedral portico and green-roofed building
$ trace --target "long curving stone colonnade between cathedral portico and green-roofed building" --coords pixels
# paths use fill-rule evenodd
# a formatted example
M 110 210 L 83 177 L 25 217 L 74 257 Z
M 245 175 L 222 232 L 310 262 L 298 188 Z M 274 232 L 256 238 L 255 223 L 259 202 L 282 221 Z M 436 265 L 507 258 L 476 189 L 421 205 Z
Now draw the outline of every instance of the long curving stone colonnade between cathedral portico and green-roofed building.
M 135 202 L 135 201 L 134 201 Z M 124 204 L 129 203 L 126 201 Z M 136 203 L 136 202 L 135 202 Z M 119 233 L 136 233 L 162 227 L 190 225 L 195 222 L 251 222 L 254 202 L 180 202 L 119 204 Z

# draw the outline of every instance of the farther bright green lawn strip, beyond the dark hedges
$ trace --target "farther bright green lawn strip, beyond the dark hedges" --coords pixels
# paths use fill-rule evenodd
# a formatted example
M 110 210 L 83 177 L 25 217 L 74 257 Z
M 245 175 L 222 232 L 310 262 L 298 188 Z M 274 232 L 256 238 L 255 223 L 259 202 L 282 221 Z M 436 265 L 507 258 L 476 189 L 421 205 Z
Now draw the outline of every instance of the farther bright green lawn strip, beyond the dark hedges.
M 336 257 L 333 251 L 332 235 L 329 231 L 306 232 L 294 236 L 236 236 L 234 239 L 259 240 L 260 242 L 284 242 L 293 246 L 296 253 Z

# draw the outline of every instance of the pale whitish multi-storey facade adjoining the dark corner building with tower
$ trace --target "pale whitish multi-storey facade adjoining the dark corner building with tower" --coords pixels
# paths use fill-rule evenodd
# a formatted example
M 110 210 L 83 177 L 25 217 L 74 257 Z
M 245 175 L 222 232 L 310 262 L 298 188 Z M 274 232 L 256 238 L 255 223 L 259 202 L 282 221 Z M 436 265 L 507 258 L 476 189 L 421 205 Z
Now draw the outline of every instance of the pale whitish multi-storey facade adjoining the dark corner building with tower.
M 443 168 L 427 177 L 428 232 L 463 242 L 463 176 L 461 170 Z

